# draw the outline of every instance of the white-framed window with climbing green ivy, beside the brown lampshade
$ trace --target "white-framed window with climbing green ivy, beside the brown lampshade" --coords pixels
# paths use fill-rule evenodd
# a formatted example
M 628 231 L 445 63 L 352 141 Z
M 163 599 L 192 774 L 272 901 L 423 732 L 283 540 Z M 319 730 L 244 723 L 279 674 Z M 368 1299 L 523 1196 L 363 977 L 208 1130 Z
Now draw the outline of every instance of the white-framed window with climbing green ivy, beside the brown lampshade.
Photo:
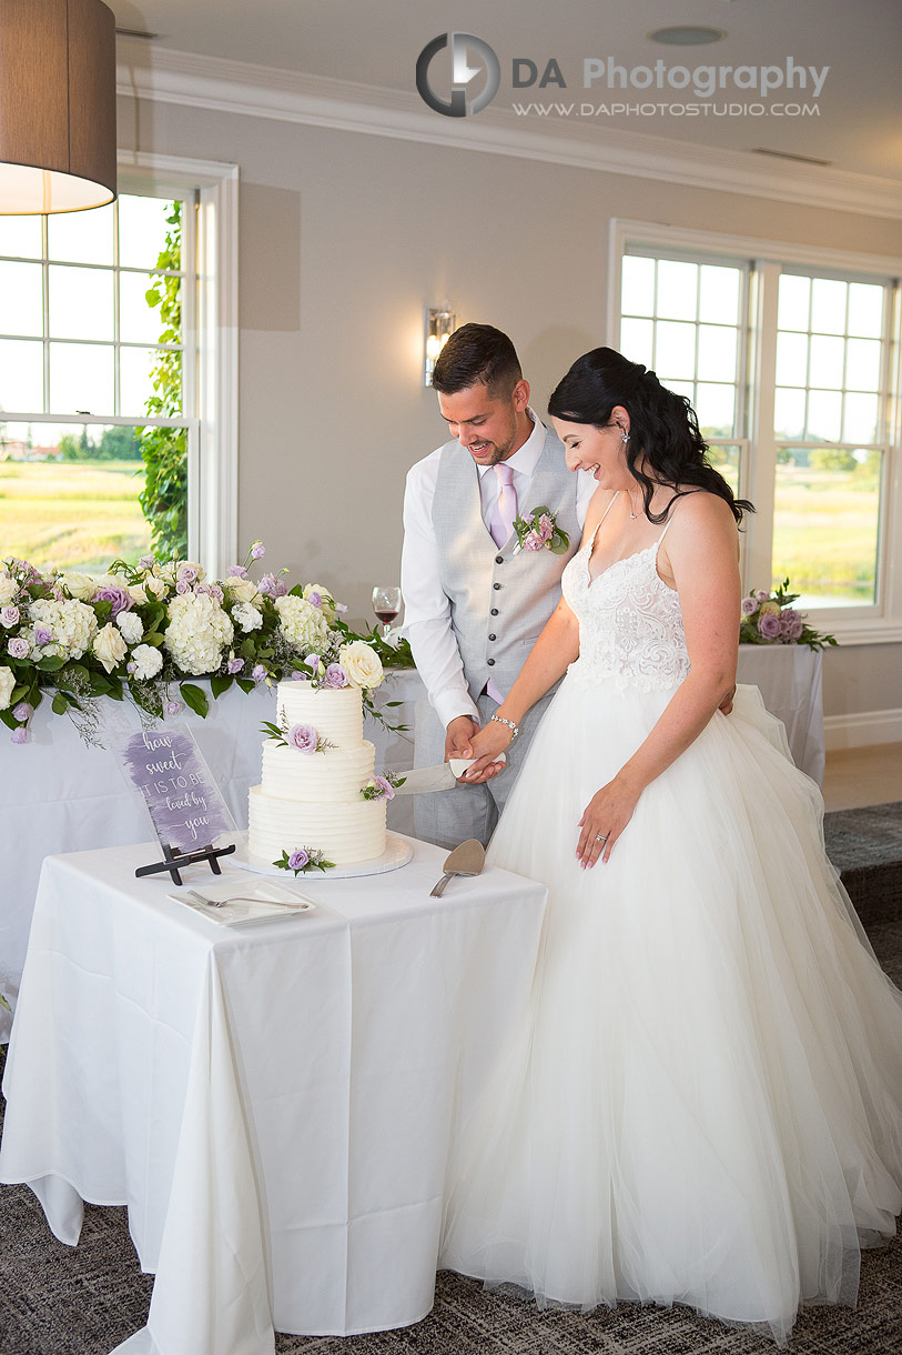
M 0 217 L 0 554 L 233 556 L 237 172 L 121 157 L 115 203 Z

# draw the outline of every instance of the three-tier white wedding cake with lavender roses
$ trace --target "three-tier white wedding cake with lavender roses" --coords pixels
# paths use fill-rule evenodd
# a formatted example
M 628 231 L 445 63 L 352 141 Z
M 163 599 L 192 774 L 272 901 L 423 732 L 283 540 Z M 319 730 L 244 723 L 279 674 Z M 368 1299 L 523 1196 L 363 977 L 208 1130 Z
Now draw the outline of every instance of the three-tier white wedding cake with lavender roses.
M 375 767 L 375 749 L 363 737 L 360 688 L 279 683 L 276 725 L 286 743 L 263 744 L 261 783 L 251 787 L 248 858 L 272 864 L 283 852 L 303 850 L 351 866 L 382 856 L 386 802 L 360 795 Z

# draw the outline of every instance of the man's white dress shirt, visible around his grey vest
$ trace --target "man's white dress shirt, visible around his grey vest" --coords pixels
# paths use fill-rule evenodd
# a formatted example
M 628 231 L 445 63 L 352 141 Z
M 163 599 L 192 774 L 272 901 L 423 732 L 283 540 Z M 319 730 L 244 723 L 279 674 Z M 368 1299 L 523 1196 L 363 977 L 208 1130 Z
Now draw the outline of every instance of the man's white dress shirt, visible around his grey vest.
M 536 419 L 532 409 L 532 432 L 505 465 L 513 470 L 513 488 L 517 493 L 517 512 L 527 505 L 527 495 L 532 484 L 535 467 L 544 447 L 544 424 Z M 417 461 L 408 472 L 404 493 L 404 550 L 401 553 L 401 592 L 404 593 L 404 634 L 417 663 L 417 669 L 429 701 L 443 725 L 456 715 L 471 715 L 479 720 L 479 713 L 470 696 L 463 676 L 463 663 L 451 626 L 451 603 L 439 570 L 439 553 L 432 527 L 432 500 L 439 476 L 442 447 Z M 470 455 L 466 453 L 466 455 Z M 498 499 L 500 482 L 492 466 L 477 466 L 479 473 L 479 495 L 482 499 L 482 519 L 486 527 Z M 578 470 L 577 520 L 580 530 L 585 523 L 589 500 L 597 485 L 592 476 Z

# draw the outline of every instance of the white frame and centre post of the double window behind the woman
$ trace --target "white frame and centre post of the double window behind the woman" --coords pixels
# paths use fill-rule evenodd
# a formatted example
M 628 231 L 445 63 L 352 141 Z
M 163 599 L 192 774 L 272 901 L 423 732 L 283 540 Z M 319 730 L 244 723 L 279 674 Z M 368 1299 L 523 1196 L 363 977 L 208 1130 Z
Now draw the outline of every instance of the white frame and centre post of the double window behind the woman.
M 779 240 L 727 236 L 708 230 L 657 225 L 647 221 L 612 218 L 608 234 L 608 343 L 618 346 L 620 329 L 620 275 L 628 245 L 662 255 L 680 252 L 711 263 L 752 263 L 749 305 L 748 400 L 749 427 L 739 428 L 734 443 L 744 443 L 746 455 L 739 466 L 739 496 L 750 499 L 757 512 L 749 515 L 742 533 L 742 581 L 749 588 L 769 587 L 773 543 L 773 500 L 777 439 L 773 436 L 773 392 L 776 374 L 776 304 L 781 264 L 804 270 L 834 271 L 864 282 L 894 279 L 888 344 L 888 411 L 883 434 L 887 453 L 883 466 L 882 514 L 878 539 L 879 600 L 869 607 L 810 608 L 819 630 L 832 631 L 846 645 L 891 644 L 902 640 L 902 369 L 899 324 L 902 259 L 886 255 L 851 253 L 799 245 Z M 748 438 L 748 442 L 745 439 Z M 883 440 L 882 439 L 882 440 Z

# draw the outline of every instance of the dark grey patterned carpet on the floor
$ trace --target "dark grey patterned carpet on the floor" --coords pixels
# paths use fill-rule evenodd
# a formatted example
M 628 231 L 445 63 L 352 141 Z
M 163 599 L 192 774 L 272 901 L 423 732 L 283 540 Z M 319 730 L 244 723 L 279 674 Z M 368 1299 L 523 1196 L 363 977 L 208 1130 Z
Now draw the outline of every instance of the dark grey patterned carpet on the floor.
M 902 986 L 902 924 L 869 928 L 890 977 Z M 5 1050 L 0 1050 L 0 1070 Z M 0 1098 L 0 1125 L 3 1099 Z M 142 1275 L 123 1209 L 87 1206 L 77 1248 L 49 1233 L 22 1186 L 0 1187 L 0 1355 L 108 1355 L 146 1321 L 153 1276 Z M 902 1348 L 902 1233 L 865 1252 L 859 1306 L 813 1308 L 799 1318 L 791 1355 L 898 1355 Z M 278 1336 L 278 1355 L 756 1355 L 763 1336 L 683 1308 L 622 1305 L 589 1316 L 539 1312 L 505 1290 L 443 1272 L 425 1321 L 351 1337 Z

